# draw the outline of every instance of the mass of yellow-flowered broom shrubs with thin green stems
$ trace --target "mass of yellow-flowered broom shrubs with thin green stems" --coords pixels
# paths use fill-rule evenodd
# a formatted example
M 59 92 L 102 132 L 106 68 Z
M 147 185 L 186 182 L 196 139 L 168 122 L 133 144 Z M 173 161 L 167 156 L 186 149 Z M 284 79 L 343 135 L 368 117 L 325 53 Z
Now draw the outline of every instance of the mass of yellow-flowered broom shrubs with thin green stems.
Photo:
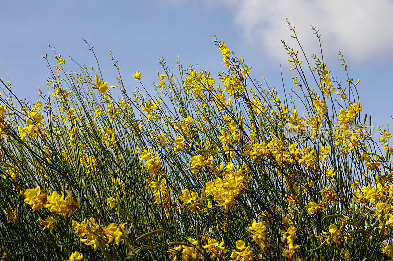
M 139 71 L 126 88 L 112 52 L 113 86 L 54 50 L 41 101 L 3 83 L 1 260 L 393 257 L 391 134 L 371 137 L 343 56 L 339 80 L 283 42 L 297 76 L 280 99 L 215 45 L 227 71 L 162 59 L 154 93 Z

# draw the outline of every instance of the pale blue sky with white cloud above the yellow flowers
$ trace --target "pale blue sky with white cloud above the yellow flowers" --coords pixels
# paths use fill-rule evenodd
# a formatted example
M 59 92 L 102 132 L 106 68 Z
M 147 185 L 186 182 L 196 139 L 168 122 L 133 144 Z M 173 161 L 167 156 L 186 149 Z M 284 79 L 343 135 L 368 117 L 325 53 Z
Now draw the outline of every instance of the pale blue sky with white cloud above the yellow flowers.
M 342 51 L 350 76 L 361 80 L 364 113 L 371 113 L 377 126 L 391 122 L 392 0 L 42 0 L 7 1 L 1 9 L 0 78 L 10 81 L 20 98 L 35 101 L 38 88 L 47 90 L 49 68 L 41 57 L 52 57 L 48 44 L 64 58 L 94 65 L 82 38 L 94 45 L 109 84 L 116 74 L 109 55 L 114 52 L 130 92 L 137 85 L 136 70 L 152 88 L 161 57 L 172 70 L 180 57 L 183 65 L 198 64 L 214 75 L 224 71 L 214 35 L 253 65 L 253 78 L 263 75 L 280 88 L 281 65 L 286 86 L 293 87 L 294 73 L 287 70 L 291 64 L 280 42 L 292 44 L 288 17 L 309 55 L 317 52 L 309 25 L 320 29 L 327 67 L 345 80 L 337 56 Z M 75 69 L 67 59 L 66 69 Z

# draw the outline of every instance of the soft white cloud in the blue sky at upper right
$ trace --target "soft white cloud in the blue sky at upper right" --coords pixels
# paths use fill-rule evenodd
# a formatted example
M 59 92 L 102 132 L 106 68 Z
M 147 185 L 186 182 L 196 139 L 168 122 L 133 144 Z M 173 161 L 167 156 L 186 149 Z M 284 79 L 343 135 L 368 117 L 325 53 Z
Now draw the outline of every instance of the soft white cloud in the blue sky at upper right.
M 224 1 L 221 0 L 221 3 Z M 261 45 L 272 57 L 286 60 L 283 39 L 295 46 L 285 18 L 295 26 L 309 56 L 319 54 L 310 25 L 322 34 L 324 55 L 337 52 L 356 61 L 393 54 L 392 0 L 226 0 L 247 42 Z

